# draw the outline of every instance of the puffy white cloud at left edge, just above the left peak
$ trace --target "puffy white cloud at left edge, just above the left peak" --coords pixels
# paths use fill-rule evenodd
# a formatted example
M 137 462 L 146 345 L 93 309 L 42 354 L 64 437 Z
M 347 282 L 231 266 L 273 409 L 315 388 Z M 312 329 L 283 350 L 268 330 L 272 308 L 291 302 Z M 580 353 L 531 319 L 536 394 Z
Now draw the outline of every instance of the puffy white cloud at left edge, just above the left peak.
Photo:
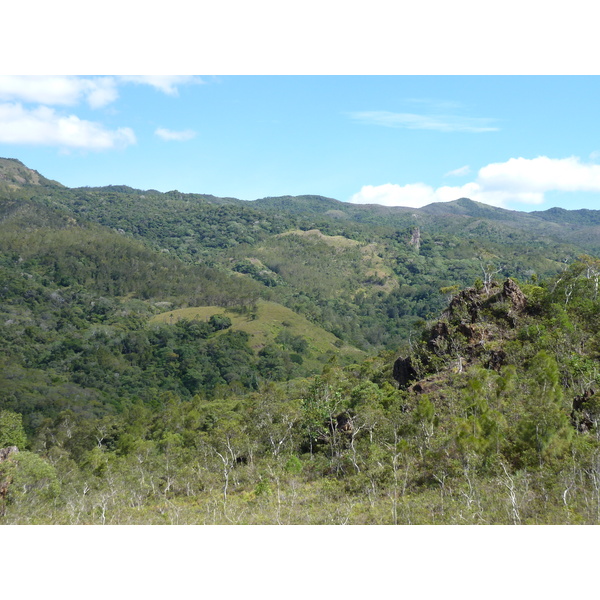
M 46 106 L 28 110 L 18 103 L 0 104 L 0 143 L 107 150 L 135 142 L 128 127 L 111 131 L 75 115 L 61 116 Z

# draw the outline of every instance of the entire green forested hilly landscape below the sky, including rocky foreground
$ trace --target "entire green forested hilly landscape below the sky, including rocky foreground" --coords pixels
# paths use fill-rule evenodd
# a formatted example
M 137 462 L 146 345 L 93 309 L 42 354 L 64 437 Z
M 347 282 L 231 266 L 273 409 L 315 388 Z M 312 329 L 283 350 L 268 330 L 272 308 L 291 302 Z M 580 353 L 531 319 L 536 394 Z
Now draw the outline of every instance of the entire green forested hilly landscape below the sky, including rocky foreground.
M 0 159 L 0 522 L 597 523 L 599 232 Z

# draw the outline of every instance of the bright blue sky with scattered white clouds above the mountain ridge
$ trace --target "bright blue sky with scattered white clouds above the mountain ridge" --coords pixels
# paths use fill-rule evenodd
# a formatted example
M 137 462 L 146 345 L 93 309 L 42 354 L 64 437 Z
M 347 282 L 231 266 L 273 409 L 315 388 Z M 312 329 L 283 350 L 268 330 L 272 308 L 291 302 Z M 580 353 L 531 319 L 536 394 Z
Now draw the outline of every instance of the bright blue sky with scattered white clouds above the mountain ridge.
M 600 208 L 600 77 L 0 76 L 0 156 L 69 186 Z

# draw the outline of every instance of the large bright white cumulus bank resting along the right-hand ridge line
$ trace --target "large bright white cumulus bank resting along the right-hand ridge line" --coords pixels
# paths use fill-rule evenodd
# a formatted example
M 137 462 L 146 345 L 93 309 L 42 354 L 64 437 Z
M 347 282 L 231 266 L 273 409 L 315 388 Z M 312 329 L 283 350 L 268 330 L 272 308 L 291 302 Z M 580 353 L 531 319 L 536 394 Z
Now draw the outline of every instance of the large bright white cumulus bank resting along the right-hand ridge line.
M 506 207 L 509 203 L 542 204 L 544 194 L 552 191 L 600 192 L 600 165 L 582 163 L 575 156 L 511 158 L 482 167 L 476 180 L 463 186 L 434 189 L 423 183 L 367 185 L 354 194 L 350 202 L 420 208 L 432 202 L 449 202 L 466 197 L 476 202 Z

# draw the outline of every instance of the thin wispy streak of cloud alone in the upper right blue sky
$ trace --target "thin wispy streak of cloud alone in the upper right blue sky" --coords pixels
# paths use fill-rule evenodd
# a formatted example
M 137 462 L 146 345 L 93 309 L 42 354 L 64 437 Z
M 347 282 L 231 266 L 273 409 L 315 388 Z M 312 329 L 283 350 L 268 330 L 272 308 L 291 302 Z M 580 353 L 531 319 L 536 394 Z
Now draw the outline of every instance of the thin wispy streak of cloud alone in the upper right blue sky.
M 444 132 L 482 133 L 498 131 L 491 123 L 493 119 L 461 117 L 456 115 L 420 115 L 415 113 L 393 113 L 388 111 L 364 111 L 349 113 L 351 119 L 368 125 L 397 127 L 404 129 L 427 129 Z

